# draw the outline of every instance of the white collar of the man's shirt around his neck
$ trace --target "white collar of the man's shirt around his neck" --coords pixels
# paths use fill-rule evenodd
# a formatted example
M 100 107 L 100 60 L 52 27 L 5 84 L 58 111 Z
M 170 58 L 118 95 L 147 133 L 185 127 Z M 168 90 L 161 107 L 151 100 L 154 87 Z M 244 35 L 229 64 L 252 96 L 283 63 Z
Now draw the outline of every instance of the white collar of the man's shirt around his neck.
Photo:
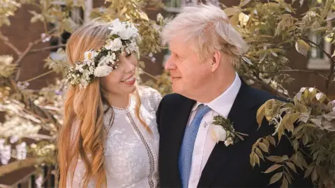
M 235 79 L 227 90 L 225 90 L 221 95 L 209 103 L 196 102 L 192 108 L 192 111 L 195 111 L 200 104 L 204 104 L 219 113 L 221 116 L 227 118 L 228 113 L 232 108 L 232 104 L 234 104 L 237 93 L 239 93 L 240 87 L 241 79 L 239 79 L 239 75 L 237 75 L 237 72 L 235 72 Z

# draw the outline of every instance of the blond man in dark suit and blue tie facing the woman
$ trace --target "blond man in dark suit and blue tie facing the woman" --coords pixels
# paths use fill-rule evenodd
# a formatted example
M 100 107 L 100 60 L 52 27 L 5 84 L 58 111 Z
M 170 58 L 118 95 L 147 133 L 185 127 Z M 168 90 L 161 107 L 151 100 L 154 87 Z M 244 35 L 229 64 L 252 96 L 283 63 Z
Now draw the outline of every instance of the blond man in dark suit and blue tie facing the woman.
M 256 112 L 275 96 L 247 86 L 235 72 L 246 43 L 228 20 L 220 8 L 200 5 L 184 8 L 163 29 L 163 43 L 172 52 L 165 69 L 174 94 L 163 97 L 156 114 L 161 187 L 267 187 L 274 175 L 263 173 L 271 163 L 252 167 L 249 155 L 255 141 L 274 132 L 266 121 L 258 130 Z M 245 140 L 216 143 L 211 122 L 217 115 L 248 134 Z M 290 152 L 285 140 L 271 150 Z M 281 180 L 269 186 L 280 185 Z M 298 176 L 293 185 L 311 182 Z

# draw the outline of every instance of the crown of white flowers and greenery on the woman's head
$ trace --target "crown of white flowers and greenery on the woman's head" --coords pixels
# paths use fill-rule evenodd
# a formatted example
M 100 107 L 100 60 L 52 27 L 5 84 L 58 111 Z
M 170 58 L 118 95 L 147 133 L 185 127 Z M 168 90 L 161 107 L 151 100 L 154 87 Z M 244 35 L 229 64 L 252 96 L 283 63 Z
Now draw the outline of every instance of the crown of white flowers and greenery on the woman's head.
M 139 34 L 131 22 L 120 22 L 119 19 L 108 26 L 111 30 L 105 45 L 98 51 L 89 50 L 84 53 L 84 61 L 75 63 L 68 69 L 67 79 L 73 86 L 79 84 L 86 88 L 94 77 L 105 77 L 119 66 L 119 55 L 138 52 L 136 45 Z

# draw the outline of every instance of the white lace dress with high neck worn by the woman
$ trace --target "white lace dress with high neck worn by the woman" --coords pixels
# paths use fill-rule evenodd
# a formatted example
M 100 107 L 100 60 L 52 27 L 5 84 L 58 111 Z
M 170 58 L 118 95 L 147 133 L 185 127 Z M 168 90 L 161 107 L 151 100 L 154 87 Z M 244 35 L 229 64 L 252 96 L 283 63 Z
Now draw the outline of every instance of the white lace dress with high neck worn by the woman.
M 131 96 L 126 109 L 111 107 L 105 113 L 105 125 L 108 125 L 114 110 L 114 123 L 105 142 L 107 187 L 158 187 L 156 110 L 161 95 L 152 88 L 140 88 L 140 96 L 140 116 L 149 125 L 152 134 L 135 116 L 135 96 Z M 84 171 L 83 162 L 78 160 L 72 185 L 68 178 L 67 187 L 82 187 Z M 93 181 L 89 187 L 95 187 Z

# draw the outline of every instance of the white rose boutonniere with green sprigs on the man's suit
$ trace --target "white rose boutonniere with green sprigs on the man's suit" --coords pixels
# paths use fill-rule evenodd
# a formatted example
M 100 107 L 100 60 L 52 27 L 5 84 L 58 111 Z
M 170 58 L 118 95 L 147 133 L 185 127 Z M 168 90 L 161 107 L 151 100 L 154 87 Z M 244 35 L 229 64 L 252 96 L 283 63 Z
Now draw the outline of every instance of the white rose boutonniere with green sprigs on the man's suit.
M 239 141 L 244 141 L 242 136 L 248 136 L 248 134 L 236 132 L 229 119 L 215 116 L 211 125 L 211 136 L 216 143 L 224 141 L 225 146 L 229 146 Z

